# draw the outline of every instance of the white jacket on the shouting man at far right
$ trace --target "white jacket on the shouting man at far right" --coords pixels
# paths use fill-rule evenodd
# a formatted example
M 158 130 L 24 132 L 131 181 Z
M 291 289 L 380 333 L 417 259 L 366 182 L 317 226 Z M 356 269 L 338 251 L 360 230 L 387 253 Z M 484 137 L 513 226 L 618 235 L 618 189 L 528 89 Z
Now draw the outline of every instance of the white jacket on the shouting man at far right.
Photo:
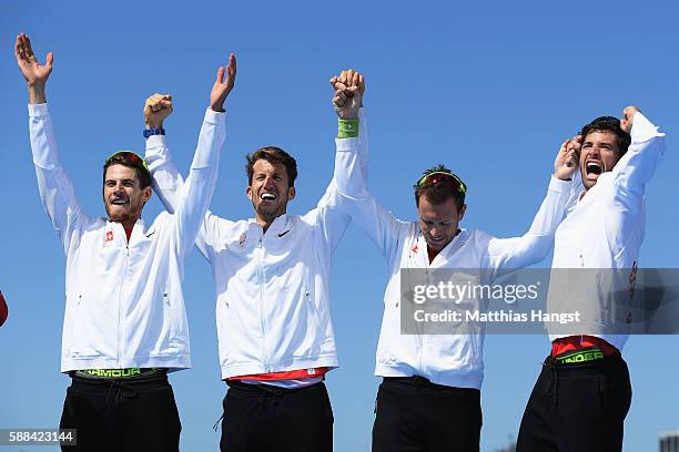
M 584 196 L 579 184 L 556 232 L 547 292 L 549 311 L 580 311 L 577 332 L 604 338 L 619 350 L 628 338 L 627 323 L 639 320 L 636 307 L 642 308 L 631 289 L 645 234 L 645 191 L 666 147 L 665 134 L 640 112 L 630 135 L 629 150 L 612 171 L 599 175 Z M 547 323 L 553 341 L 572 336 L 555 328 Z

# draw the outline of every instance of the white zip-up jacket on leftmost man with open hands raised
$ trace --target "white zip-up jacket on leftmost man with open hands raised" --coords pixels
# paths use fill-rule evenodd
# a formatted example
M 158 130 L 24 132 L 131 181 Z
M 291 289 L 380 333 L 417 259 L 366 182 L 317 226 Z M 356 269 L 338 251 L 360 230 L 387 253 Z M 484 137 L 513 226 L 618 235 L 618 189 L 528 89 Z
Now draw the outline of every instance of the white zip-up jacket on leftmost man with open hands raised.
M 29 126 L 40 197 L 67 257 L 61 371 L 191 367 L 181 281 L 214 191 L 224 114 L 205 113 L 175 214 L 139 219 L 129 244 L 120 223 L 81 210 L 47 104 L 29 105 Z

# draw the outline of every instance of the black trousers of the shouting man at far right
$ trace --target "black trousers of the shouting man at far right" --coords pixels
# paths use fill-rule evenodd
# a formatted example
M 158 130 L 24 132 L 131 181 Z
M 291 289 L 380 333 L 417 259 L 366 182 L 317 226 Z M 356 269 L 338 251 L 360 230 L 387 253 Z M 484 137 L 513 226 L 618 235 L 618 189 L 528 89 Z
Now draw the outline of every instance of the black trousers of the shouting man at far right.
M 631 403 L 620 353 L 599 361 L 556 364 L 547 358 L 519 429 L 518 452 L 619 452 Z

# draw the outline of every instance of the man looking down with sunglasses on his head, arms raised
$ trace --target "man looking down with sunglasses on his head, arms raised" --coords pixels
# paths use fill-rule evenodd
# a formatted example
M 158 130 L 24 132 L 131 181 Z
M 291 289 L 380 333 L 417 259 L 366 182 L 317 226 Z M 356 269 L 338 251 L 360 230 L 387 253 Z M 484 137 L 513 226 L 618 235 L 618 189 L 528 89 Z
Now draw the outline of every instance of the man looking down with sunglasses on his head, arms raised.
M 356 99 L 361 93 L 352 91 L 343 76 L 334 88 L 335 109 L 347 129 L 357 120 L 355 105 L 361 103 Z M 467 322 L 457 333 L 403 333 L 402 284 L 412 290 L 411 275 L 428 280 L 434 271 L 460 269 L 488 285 L 500 271 L 545 258 L 570 194 L 577 150 L 570 142 L 561 145 L 547 196 L 530 229 L 521 237 L 500 239 L 459 228 L 467 186 L 442 165 L 425 171 L 415 183 L 418 220 L 395 218 L 367 191 L 358 171 L 358 138 L 337 138 L 340 205 L 377 245 L 391 275 L 377 346 L 375 373 L 383 382 L 377 392 L 373 451 L 478 451 L 483 325 Z M 483 305 L 477 309 L 484 309 Z

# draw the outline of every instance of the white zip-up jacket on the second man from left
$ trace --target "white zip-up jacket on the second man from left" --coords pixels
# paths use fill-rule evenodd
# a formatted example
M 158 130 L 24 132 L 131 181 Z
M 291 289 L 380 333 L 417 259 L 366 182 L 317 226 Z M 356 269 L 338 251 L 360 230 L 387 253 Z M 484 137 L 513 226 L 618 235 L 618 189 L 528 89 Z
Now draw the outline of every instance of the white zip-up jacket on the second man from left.
M 146 160 L 155 192 L 172 212 L 182 176 L 168 148 L 149 148 Z M 359 171 L 365 177 L 366 168 Z M 277 217 L 266 234 L 254 218 L 205 215 L 196 247 L 215 281 L 222 379 L 338 366 L 331 257 L 349 217 L 337 201 L 333 179 L 316 208 Z

